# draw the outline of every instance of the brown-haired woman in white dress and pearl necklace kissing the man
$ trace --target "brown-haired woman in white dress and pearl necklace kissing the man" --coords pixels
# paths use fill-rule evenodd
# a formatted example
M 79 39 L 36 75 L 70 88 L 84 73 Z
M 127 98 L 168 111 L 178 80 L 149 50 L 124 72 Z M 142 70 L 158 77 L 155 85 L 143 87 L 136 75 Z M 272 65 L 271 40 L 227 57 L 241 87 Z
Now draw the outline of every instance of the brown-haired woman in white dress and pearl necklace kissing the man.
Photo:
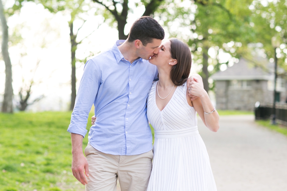
M 191 60 L 187 44 L 175 38 L 149 60 L 157 66 L 159 80 L 147 99 L 148 121 L 155 129 L 148 191 L 216 190 L 196 113 L 213 132 L 219 128 L 219 116 L 199 79 L 187 84 Z M 197 99 L 191 101 L 191 94 Z

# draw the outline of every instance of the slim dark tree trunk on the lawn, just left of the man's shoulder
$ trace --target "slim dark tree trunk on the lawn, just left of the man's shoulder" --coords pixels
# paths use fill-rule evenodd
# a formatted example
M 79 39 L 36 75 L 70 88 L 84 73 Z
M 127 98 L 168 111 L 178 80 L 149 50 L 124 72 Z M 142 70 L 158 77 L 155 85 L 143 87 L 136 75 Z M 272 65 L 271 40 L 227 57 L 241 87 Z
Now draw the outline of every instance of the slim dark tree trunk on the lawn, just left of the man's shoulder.
M 76 100 L 76 49 L 77 49 L 77 43 L 76 43 L 76 37 L 77 35 L 74 35 L 73 33 L 73 20 L 69 23 L 70 27 L 70 39 L 71 39 L 71 64 L 72 64 L 72 75 L 71 75 L 71 85 L 72 85 L 72 94 L 71 94 L 71 106 L 70 110 L 72 111 L 75 106 L 75 100 Z

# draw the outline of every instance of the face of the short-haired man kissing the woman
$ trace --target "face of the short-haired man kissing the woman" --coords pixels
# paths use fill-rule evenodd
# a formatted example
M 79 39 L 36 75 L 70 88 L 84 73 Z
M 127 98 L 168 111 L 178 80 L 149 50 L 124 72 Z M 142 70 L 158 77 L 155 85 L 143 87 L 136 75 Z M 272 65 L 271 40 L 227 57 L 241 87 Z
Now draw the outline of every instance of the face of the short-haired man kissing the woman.
M 161 44 L 160 39 L 153 39 L 151 43 L 146 44 L 146 46 L 141 45 L 139 47 L 138 56 L 148 60 L 154 54 L 158 54 L 158 47 Z

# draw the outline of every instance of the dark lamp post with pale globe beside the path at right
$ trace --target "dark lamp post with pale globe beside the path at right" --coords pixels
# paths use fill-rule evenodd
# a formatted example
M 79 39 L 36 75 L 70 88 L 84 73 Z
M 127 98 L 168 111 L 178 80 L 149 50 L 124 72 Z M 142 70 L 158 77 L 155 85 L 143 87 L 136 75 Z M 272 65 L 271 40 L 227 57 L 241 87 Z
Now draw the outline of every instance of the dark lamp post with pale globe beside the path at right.
M 276 56 L 276 48 L 280 46 L 280 41 L 277 37 L 272 37 L 271 39 L 272 46 L 274 48 L 274 99 L 273 99 L 273 114 L 272 114 L 272 125 L 276 125 L 275 119 L 276 119 L 276 79 L 277 79 L 277 56 Z

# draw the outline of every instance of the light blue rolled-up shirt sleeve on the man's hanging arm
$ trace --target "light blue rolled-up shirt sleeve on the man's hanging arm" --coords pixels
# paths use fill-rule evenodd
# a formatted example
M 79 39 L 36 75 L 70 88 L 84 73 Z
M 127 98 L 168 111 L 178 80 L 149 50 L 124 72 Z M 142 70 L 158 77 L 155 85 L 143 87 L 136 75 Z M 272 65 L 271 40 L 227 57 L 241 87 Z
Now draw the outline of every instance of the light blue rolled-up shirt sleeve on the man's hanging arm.
M 99 89 L 100 78 L 100 72 L 94 61 L 88 60 L 77 92 L 68 132 L 85 137 L 89 112 Z

